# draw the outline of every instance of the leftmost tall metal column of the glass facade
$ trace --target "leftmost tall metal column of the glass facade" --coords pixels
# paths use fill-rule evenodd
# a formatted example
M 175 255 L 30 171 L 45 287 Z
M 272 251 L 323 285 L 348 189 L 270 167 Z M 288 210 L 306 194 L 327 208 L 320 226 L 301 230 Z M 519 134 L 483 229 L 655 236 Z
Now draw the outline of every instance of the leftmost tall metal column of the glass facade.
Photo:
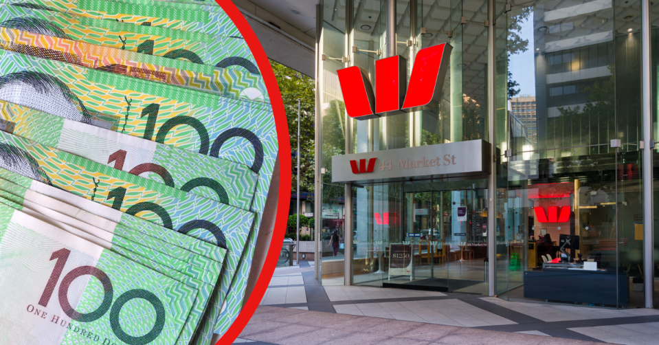
M 323 11 L 322 5 L 316 5 L 316 104 L 315 104 L 315 142 L 322 142 L 322 109 L 320 109 L 321 95 L 322 95 L 322 65 L 320 62 L 320 56 L 322 54 L 322 27 L 323 27 Z M 315 157 L 314 157 L 314 203 L 313 203 L 313 216 L 314 216 L 314 241 L 313 241 L 313 278 L 318 279 L 318 271 L 320 271 L 320 230 L 322 229 L 322 171 L 321 169 L 321 159 L 322 159 L 322 145 L 315 146 Z

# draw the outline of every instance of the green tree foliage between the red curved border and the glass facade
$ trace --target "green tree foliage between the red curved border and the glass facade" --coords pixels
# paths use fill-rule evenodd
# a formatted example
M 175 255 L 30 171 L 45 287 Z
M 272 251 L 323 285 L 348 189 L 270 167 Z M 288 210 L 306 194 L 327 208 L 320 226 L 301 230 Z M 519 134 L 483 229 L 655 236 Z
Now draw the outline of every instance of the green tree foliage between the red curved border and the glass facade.
M 300 192 L 313 193 L 315 153 L 315 80 L 271 60 L 289 124 L 291 140 L 291 193 L 297 192 L 298 98 L 300 99 Z M 302 218 L 302 217 L 300 217 Z M 295 225 L 293 225 L 294 227 Z

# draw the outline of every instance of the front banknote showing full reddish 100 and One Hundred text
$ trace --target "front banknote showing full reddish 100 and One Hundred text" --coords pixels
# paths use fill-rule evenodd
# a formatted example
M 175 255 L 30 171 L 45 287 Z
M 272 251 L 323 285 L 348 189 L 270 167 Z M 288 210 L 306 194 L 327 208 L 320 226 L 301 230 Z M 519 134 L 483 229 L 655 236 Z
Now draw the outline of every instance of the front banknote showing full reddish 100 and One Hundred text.
M 7 344 L 175 344 L 197 296 L 192 287 L 6 205 L 0 205 L 0 261 Z

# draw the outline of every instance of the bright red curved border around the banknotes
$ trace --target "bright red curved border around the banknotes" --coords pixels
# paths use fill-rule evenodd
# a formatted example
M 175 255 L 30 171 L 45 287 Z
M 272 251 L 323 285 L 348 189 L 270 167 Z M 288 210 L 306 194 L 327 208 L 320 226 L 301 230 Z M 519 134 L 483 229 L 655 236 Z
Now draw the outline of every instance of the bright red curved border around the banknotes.
M 229 18 L 234 22 L 238 30 L 240 30 L 243 38 L 247 42 L 249 49 L 252 50 L 252 55 L 256 59 L 258 69 L 265 80 L 265 87 L 267 87 L 270 102 L 272 104 L 272 111 L 275 116 L 275 124 L 277 126 L 277 141 L 279 143 L 279 200 L 277 207 L 277 218 L 275 221 L 274 232 L 270 241 L 265 264 L 261 270 L 261 274 L 256 281 L 256 286 L 245 303 L 245 307 L 236 318 L 236 321 L 231 325 L 230 329 L 225 333 L 217 344 L 232 344 L 234 340 L 241 334 L 247 322 L 252 318 L 256 307 L 260 303 L 265 290 L 270 283 L 272 274 L 275 271 L 279 253 L 282 249 L 284 241 L 284 232 L 289 214 L 289 206 L 291 199 L 291 142 L 289 140 L 289 127 L 286 120 L 286 111 L 284 111 L 284 101 L 277 85 L 275 74 L 270 66 L 270 60 L 265 55 L 265 51 L 261 46 L 254 30 L 247 23 L 247 19 L 243 16 L 236 5 L 230 0 L 216 0 L 221 8 L 227 13 Z M 258 230 L 258 229 L 256 229 Z

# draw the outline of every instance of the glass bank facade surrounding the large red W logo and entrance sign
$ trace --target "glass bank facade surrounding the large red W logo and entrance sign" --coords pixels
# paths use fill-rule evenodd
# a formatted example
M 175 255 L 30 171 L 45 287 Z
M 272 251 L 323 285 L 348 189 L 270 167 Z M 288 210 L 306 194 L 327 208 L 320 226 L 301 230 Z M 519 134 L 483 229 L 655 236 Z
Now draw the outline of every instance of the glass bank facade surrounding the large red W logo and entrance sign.
M 649 90 L 641 84 L 641 2 L 514 0 L 489 8 L 483 0 L 398 0 L 395 30 L 388 3 L 321 1 L 322 285 L 487 295 L 493 283 L 509 300 L 645 306 L 644 291 L 654 287 L 643 285 L 642 100 Z M 388 57 L 392 32 L 407 78 L 420 49 L 453 47 L 441 101 L 424 111 L 350 118 L 337 70 L 357 66 L 375 81 L 375 61 Z M 653 128 L 658 37 L 652 29 L 654 120 L 645 125 Z M 493 195 L 488 175 L 332 182 L 335 155 L 467 140 L 495 146 Z M 653 190 L 659 197 L 658 183 Z M 336 255 L 333 234 L 342 241 Z M 394 263 L 401 251 L 410 260 Z

